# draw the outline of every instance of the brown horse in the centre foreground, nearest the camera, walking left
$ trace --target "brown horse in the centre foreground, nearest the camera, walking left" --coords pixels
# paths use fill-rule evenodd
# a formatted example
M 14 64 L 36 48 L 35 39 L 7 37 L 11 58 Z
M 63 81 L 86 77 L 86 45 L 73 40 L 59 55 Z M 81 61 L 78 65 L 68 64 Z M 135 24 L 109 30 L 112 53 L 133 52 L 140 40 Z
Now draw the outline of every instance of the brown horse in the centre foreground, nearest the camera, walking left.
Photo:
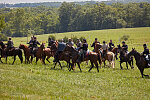
M 94 67 L 94 64 L 97 68 L 97 71 L 99 72 L 98 63 L 97 63 L 97 61 L 99 61 L 99 64 L 101 66 L 101 56 L 99 54 L 97 54 L 95 52 L 91 52 L 91 51 L 87 52 L 86 56 L 83 59 L 83 61 L 79 62 L 78 59 L 79 59 L 80 55 L 79 55 L 79 52 L 74 47 L 66 46 L 65 51 L 68 51 L 71 54 L 72 66 L 71 66 L 69 71 L 71 71 L 71 69 L 74 70 L 73 66 L 77 63 L 78 67 L 80 69 L 80 72 L 82 72 L 81 67 L 80 67 L 80 63 L 83 62 L 83 61 L 90 60 L 92 66 L 89 69 L 89 72 Z

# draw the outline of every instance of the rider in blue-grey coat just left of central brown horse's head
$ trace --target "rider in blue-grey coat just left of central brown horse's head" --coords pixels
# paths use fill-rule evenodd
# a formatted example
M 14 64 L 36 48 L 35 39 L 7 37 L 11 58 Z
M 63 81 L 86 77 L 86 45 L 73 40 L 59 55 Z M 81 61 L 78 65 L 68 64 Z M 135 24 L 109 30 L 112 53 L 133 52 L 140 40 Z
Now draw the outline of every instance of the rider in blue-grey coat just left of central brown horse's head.
M 65 47 L 66 47 L 66 43 L 64 43 L 64 42 L 59 42 L 58 43 L 58 49 L 57 49 L 56 54 L 54 56 L 53 62 L 58 62 L 59 61 L 58 57 L 64 51 Z

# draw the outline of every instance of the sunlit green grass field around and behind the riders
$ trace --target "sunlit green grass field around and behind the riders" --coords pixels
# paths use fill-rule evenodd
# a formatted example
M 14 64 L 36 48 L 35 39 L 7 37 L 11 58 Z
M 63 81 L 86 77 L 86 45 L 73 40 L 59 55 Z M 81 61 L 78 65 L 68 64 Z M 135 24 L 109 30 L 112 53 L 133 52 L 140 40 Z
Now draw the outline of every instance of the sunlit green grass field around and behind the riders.
M 49 34 L 37 36 L 41 42 L 47 41 Z M 120 37 L 129 35 L 130 38 L 126 43 L 131 48 L 136 48 L 142 52 L 143 43 L 147 43 L 150 48 L 150 27 L 147 28 L 125 28 L 96 30 L 84 32 L 69 32 L 54 34 L 57 39 L 64 36 L 71 37 L 84 36 L 88 44 L 92 44 L 97 37 L 102 43 L 103 40 L 109 42 L 112 39 L 115 45 L 119 42 Z M 27 38 L 13 38 L 15 46 L 20 43 L 25 44 Z M 92 50 L 92 48 L 89 48 Z M 76 67 L 75 72 L 69 72 L 66 63 L 62 62 L 63 70 L 54 65 L 42 65 L 39 61 L 36 65 L 20 64 L 17 58 L 14 65 L 12 57 L 9 57 L 9 64 L 0 64 L 0 99 L 137 99 L 150 100 L 150 78 L 141 78 L 140 72 L 136 65 L 134 70 L 120 70 L 119 61 L 115 61 L 115 69 L 102 68 L 98 73 L 96 68 L 89 70 L 90 64 L 81 64 L 83 70 L 79 72 Z M 4 60 L 3 60 L 4 61 Z M 150 75 L 150 69 L 145 69 L 145 74 Z

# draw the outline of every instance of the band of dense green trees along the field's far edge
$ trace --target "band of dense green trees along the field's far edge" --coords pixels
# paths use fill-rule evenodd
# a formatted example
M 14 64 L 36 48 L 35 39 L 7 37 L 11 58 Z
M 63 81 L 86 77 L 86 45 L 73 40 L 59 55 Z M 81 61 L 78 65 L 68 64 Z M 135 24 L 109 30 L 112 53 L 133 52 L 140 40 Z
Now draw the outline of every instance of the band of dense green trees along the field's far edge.
M 150 3 L 79 5 L 63 2 L 59 8 L 1 8 L 0 14 L 5 21 L 1 33 L 15 37 L 150 26 Z

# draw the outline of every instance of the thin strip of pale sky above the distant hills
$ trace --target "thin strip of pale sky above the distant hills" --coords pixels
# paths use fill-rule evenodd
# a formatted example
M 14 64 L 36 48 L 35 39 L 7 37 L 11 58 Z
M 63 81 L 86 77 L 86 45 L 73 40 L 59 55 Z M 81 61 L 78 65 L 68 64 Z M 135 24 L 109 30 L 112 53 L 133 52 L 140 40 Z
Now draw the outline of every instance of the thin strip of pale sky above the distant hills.
M 0 3 L 39 3 L 39 2 L 73 2 L 73 1 L 91 1 L 91 0 L 0 0 Z M 92 1 L 107 1 L 107 0 L 92 0 Z

